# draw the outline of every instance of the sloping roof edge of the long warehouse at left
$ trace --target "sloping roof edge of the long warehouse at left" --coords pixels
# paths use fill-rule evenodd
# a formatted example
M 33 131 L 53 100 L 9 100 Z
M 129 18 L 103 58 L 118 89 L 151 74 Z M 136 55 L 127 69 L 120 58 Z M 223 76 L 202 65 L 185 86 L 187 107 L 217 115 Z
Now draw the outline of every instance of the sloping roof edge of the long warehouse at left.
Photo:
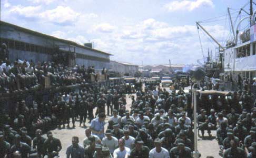
M 23 32 L 26 32 L 26 33 L 29 33 L 29 34 L 33 34 L 33 35 L 37 35 L 37 36 L 43 36 L 43 37 L 46 37 L 46 38 L 51 38 L 51 39 L 56 40 L 56 41 L 65 42 L 65 43 L 73 45 L 73 46 L 82 47 L 86 50 L 91 50 L 91 51 L 95 51 L 95 52 L 102 53 L 102 54 L 107 54 L 107 55 L 113 55 L 113 54 L 106 53 L 106 52 L 103 52 L 103 51 L 95 50 L 95 49 L 90 48 L 90 47 L 85 47 L 85 46 L 77 44 L 73 41 L 64 40 L 62 38 L 57 38 L 57 37 L 54 37 L 54 36 L 50 36 L 50 35 L 47 35 L 47 34 L 36 32 L 36 31 L 31 30 L 31 29 L 27 29 L 27 28 L 24 28 L 24 27 L 21 27 L 21 26 L 10 24 L 10 23 L 4 22 L 4 21 L 0 21 L 0 24 L 15 27 L 16 29 L 18 29 L 20 31 L 23 31 Z

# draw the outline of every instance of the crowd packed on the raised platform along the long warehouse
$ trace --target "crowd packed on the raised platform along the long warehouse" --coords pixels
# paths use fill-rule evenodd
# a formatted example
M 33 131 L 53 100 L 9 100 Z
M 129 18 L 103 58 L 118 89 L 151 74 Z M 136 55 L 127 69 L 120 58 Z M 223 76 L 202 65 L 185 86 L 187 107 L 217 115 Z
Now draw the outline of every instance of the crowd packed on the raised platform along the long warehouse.
M 47 83 L 56 87 L 86 83 L 91 80 L 91 74 L 97 80 L 94 66 L 68 67 L 60 63 L 27 60 L 11 63 L 6 44 L 3 43 L 0 50 L 0 93 L 21 92 L 38 86 L 44 88 Z

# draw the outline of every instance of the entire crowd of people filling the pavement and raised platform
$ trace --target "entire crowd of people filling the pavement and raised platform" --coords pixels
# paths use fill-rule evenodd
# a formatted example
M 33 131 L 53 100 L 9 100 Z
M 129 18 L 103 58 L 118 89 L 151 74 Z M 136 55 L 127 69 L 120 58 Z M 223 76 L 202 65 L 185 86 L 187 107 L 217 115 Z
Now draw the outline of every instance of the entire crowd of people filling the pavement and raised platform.
M 15 82 L 24 90 L 41 85 L 46 75 L 56 86 L 86 83 L 87 74 L 93 71 L 92 67 L 86 71 L 84 67 L 71 68 L 51 62 L 35 66 L 27 61 L 9 64 L 6 60 L 3 64 L 2 93 L 20 91 Z M 67 158 L 192 157 L 191 91 L 185 93 L 181 87 L 172 92 L 162 88 L 154 92 L 138 89 L 131 96 L 131 105 L 127 105 L 126 96 L 126 84 L 110 88 L 91 84 L 79 92 L 64 90 L 48 101 L 39 99 L 32 105 L 20 99 L 8 112 L 0 111 L 0 157 L 58 157 L 64 149 L 51 130 L 71 128 L 71 125 L 75 128 L 76 121 L 86 127 L 86 118 L 90 125 L 85 129 L 85 139 L 72 137 L 72 144 L 65 146 Z M 198 133 L 202 139 L 214 139 L 211 131 L 216 130 L 220 155 L 224 158 L 255 157 L 253 98 L 247 88 L 233 92 L 231 97 L 198 95 Z M 105 129 L 106 115 L 110 119 Z M 209 137 L 205 137 L 205 131 Z M 44 133 L 46 137 L 42 136 Z

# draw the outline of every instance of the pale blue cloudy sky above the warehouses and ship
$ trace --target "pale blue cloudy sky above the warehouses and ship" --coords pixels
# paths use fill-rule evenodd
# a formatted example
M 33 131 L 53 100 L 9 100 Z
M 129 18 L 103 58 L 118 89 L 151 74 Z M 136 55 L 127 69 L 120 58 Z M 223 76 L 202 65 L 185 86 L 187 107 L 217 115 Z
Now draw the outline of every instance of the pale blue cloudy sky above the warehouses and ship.
M 0 0 L 1 20 L 33 31 L 71 40 L 93 42 L 111 60 L 137 65 L 192 64 L 215 54 L 247 0 Z M 245 10 L 249 12 L 249 5 Z M 214 18 L 218 17 L 218 18 Z M 211 18 L 211 19 L 209 19 Z M 242 16 L 240 16 L 242 18 Z M 207 20 L 208 19 L 208 20 Z M 205 21 L 206 20 L 206 21 Z M 201 44 L 199 40 L 201 38 Z M 203 53 L 202 53 L 203 50 Z

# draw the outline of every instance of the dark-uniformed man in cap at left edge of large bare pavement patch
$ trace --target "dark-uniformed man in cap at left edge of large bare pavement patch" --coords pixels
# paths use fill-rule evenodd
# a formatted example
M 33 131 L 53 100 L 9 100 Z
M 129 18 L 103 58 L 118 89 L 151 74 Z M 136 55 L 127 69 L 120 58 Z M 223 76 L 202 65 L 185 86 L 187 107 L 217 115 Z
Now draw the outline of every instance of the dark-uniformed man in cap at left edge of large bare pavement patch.
M 44 155 L 47 158 L 52 158 L 54 152 L 60 152 L 62 150 L 61 141 L 53 137 L 52 132 L 47 132 L 47 139 L 44 144 Z

